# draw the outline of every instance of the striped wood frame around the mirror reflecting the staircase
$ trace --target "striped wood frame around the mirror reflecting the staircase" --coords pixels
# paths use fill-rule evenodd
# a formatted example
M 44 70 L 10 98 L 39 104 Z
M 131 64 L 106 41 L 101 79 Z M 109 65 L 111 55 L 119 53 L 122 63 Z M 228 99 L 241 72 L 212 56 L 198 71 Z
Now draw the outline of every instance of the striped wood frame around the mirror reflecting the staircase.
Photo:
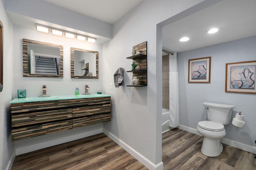
M 50 47 L 60 48 L 60 74 L 46 75 L 46 74 L 31 74 L 28 72 L 28 43 L 47 45 Z M 23 39 L 23 77 L 57 77 L 63 78 L 63 45 L 56 45 L 52 43 L 38 42 L 34 40 Z

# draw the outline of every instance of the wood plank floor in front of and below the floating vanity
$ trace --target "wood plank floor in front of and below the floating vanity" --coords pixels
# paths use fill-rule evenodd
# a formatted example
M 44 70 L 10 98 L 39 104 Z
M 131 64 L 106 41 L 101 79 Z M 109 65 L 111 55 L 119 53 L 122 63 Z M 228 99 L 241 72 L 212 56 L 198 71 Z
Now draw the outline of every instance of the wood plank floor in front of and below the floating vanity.
M 147 168 L 105 134 L 16 156 L 12 170 L 136 170 Z

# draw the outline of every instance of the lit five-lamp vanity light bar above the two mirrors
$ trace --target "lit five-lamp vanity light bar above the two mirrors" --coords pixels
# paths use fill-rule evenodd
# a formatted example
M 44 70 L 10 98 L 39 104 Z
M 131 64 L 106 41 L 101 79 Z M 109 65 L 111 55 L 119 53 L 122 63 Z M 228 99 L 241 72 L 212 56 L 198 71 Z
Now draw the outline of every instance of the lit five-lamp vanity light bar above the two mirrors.
M 76 38 L 77 40 L 87 41 L 87 42 L 91 42 L 91 43 L 96 42 L 96 38 L 91 38 L 91 37 L 87 37 L 87 36 L 81 36 L 81 35 L 77 35 L 77 34 L 73 34 L 73 33 L 69 33 L 69 32 L 64 32 L 62 30 L 56 30 L 54 28 L 50 28 L 47 26 L 40 26 L 37 24 L 36 24 L 36 30 L 40 31 L 40 32 L 52 33 L 52 34 L 58 35 L 58 36 L 65 36 L 67 38 Z

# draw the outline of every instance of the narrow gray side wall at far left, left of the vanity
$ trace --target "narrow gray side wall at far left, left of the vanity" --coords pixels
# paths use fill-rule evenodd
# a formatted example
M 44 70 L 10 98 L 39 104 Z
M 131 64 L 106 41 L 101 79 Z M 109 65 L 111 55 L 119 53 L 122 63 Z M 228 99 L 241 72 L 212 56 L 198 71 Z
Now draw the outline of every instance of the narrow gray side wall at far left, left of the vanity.
M 4 26 L 4 76 L 3 91 L 0 92 L 0 169 L 4 170 L 11 158 L 13 152 L 13 144 L 11 139 L 11 123 L 10 123 L 10 101 L 12 100 L 13 87 L 13 34 L 12 23 L 10 22 L 2 0 L 0 0 L 0 20 Z

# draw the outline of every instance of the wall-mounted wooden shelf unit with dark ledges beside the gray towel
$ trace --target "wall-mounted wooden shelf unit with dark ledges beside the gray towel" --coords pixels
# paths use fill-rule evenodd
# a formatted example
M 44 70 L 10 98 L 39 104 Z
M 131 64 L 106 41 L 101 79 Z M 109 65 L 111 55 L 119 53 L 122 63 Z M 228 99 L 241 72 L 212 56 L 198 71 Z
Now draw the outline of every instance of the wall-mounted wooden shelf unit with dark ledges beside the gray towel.
M 132 73 L 132 77 L 138 77 L 140 79 L 139 85 L 126 85 L 128 87 L 143 87 L 147 86 L 147 42 L 134 45 L 136 51 L 140 51 L 140 54 L 126 57 L 126 59 L 132 59 L 136 65 L 140 66 L 140 70 L 130 70 L 127 73 Z

